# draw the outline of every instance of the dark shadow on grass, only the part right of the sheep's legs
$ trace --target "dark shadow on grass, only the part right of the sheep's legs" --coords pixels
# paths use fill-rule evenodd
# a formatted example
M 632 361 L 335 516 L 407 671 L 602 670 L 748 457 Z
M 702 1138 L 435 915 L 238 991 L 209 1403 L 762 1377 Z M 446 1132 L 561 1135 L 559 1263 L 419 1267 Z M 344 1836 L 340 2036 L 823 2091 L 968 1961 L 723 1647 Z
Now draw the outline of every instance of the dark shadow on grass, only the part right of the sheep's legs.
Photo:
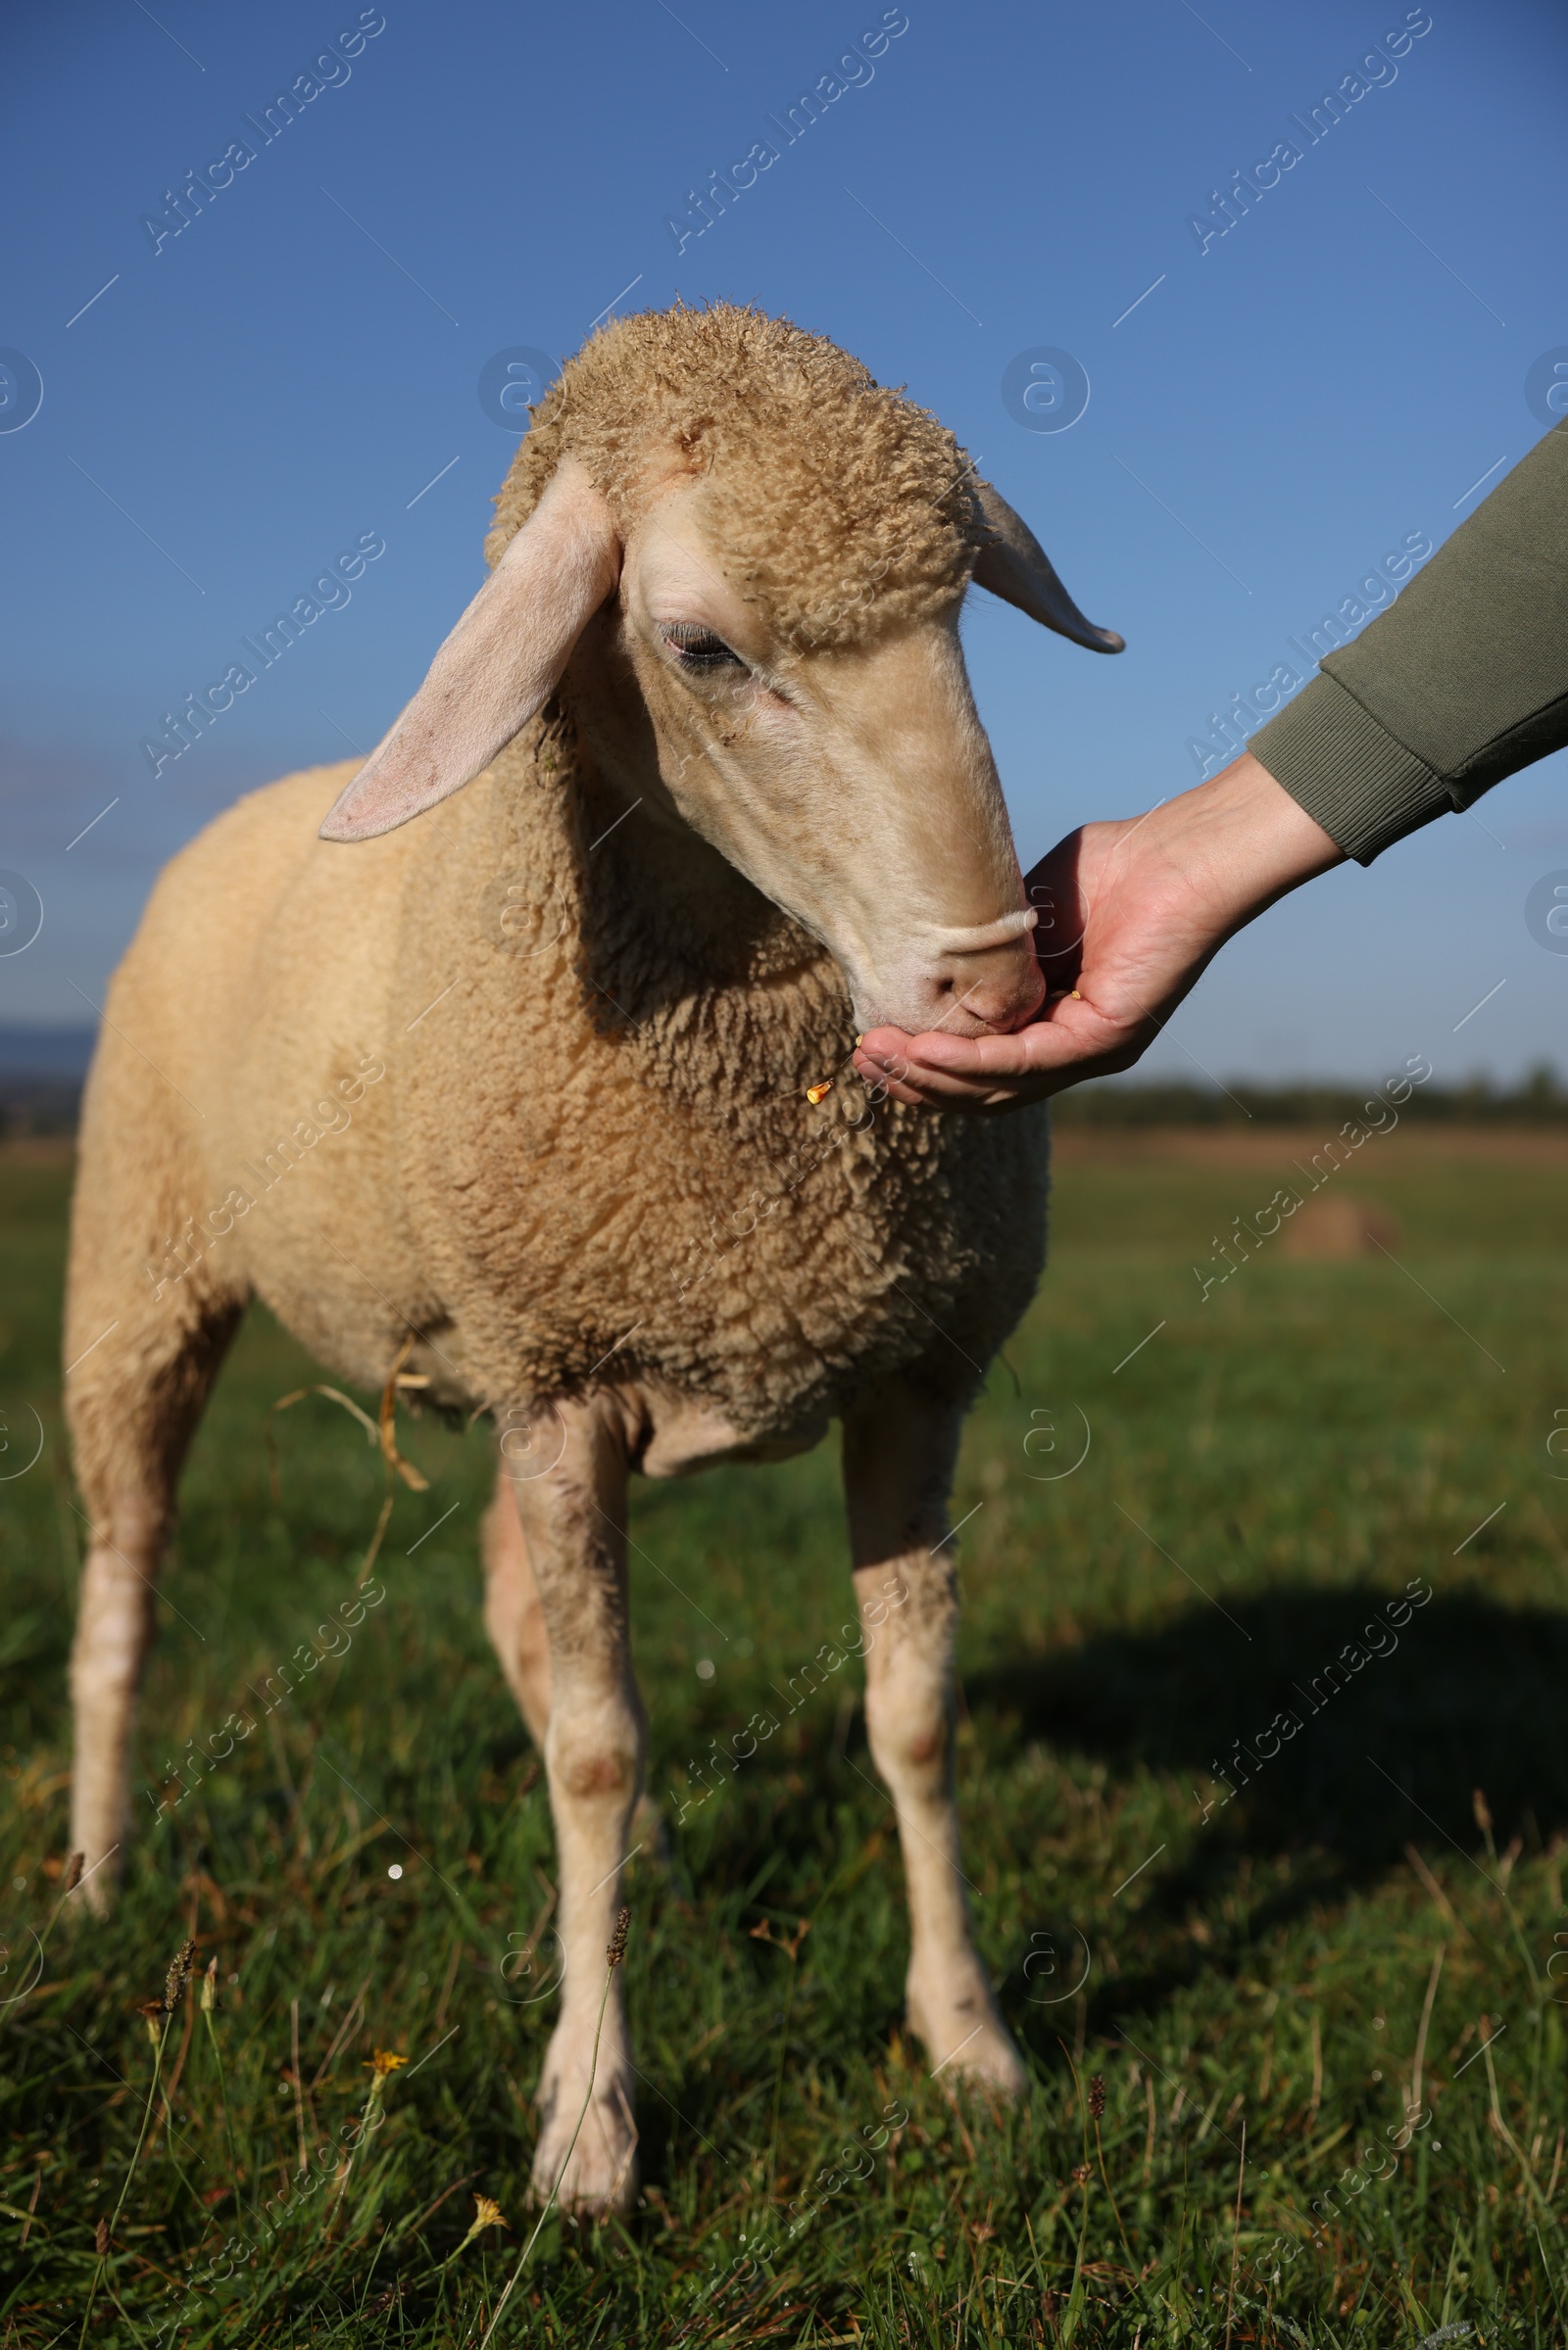
M 1227 1965 L 1187 1922 L 1213 1915 L 1229 1885 L 1248 1894 L 1239 1955 L 1258 1932 L 1375 1882 L 1406 1847 L 1490 1878 L 1476 1791 L 1497 1847 L 1521 1835 L 1533 1849 L 1568 1826 L 1568 1614 L 1455 1593 L 1394 1631 L 1387 1610 L 1389 1593 L 1366 1586 L 1279 1589 L 966 1676 L 990 1760 L 1044 1741 L 1112 1777 L 1152 1770 L 1190 1791 L 1192 1833 L 1121 1896 L 1133 1965 L 1091 1988 L 1098 2026 Z M 1300 1727 L 1281 1737 L 1279 1716 Z M 1284 1856 L 1288 1871 L 1255 1866 Z M 1023 1967 L 1011 1988 L 1041 2005 Z

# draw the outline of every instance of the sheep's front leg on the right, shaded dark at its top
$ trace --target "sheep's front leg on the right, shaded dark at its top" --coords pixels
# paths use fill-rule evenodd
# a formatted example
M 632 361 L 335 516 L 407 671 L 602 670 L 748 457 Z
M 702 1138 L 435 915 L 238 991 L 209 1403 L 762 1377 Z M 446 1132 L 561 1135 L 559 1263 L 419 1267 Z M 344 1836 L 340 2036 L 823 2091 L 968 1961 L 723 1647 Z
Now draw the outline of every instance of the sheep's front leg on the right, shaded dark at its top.
M 891 1379 L 844 1417 L 844 1490 L 865 1631 L 865 1727 L 898 1812 L 910 1887 L 910 2023 L 943 2080 L 964 2073 L 1018 2096 L 1023 2059 L 976 1955 L 952 1800 L 959 1610 L 943 1537 L 961 1422 L 954 1405 Z

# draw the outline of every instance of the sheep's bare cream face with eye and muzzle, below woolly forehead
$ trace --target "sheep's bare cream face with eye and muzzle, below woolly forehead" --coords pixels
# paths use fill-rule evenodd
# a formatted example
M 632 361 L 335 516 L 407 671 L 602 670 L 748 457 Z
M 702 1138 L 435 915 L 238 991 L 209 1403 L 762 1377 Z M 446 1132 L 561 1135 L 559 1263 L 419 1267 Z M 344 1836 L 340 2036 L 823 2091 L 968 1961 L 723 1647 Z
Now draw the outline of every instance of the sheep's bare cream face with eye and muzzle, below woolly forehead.
M 628 536 L 621 569 L 621 651 L 668 801 L 830 947 L 860 1027 L 1020 1025 L 1044 987 L 1034 914 L 957 604 L 863 644 L 811 649 L 741 592 L 710 503 L 703 484 L 668 489 Z M 574 691 L 590 740 L 604 705 L 599 670 Z M 623 759 L 611 750 L 607 764 Z M 651 787 L 625 768 L 618 780 Z

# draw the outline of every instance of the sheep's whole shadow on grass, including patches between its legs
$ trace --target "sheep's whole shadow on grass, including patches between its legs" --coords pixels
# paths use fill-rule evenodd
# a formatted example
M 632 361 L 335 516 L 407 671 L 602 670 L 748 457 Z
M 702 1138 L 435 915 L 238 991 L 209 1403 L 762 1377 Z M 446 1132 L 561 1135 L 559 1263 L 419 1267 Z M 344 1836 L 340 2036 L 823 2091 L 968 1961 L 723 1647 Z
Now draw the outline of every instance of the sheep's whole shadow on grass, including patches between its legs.
M 1152 1845 L 1166 1840 L 1152 1866 L 1138 1871 L 1128 1854 L 1135 1882 L 1119 1896 L 1110 1882 L 1093 1894 L 1100 1927 L 1084 1920 L 1098 1943 L 1084 1993 L 1093 2030 L 1157 2014 L 1201 1974 L 1255 1967 L 1260 1941 L 1403 1871 L 1408 1845 L 1460 1875 L 1474 1864 L 1488 1882 L 1469 1882 L 1490 1901 L 1476 1791 L 1497 1849 L 1521 1835 L 1535 1852 L 1568 1831 L 1568 1614 L 1458 1593 L 1396 1624 L 1392 1600 L 1366 1586 L 1288 1586 L 1227 1598 L 1227 1612 L 1197 1603 L 1150 1631 L 1103 1631 L 964 1678 L 1001 1805 L 1011 1765 L 1034 1741 L 1103 1762 L 1112 1791 L 1150 1772 L 1185 1791 L 1185 1819 L 1166 1807 L 1150 1831 Z M 1293 1737 L 1269 1737 L 1276 1716 L 1300 1723 Z M 792 1887 L 811 1885 L 835 1847 L 844 1795 L 877 1784 L 863 1716 L 837 1737 L 825 1730 L 797 1730 L 764 1770 L 741 1774 L 741 1802 L 715 1812 L 689 1899 L 748 1882 L 771 1861 L 766 1899 L 809 1906 Z M 1237 1786 L 1229 1802 L 1220 1772 Z M 1041 1842 L 1060 1826 L 1039 1819 Z M 1072 1899 L 1053 1901 L 1041 1880 L 1004 1983 L 1013 2030 L 1048 2066 L 1058 2035 L 1072 2033 L 1074 2007 L 1060 1993 L 1084 1958 Z M 1032 1955 L 1041 1939 L 1048 1969 Z M 898 2012 L 896 1972 L 889 1960 L 879 1986 L 863 1986 L 870 2033 Z

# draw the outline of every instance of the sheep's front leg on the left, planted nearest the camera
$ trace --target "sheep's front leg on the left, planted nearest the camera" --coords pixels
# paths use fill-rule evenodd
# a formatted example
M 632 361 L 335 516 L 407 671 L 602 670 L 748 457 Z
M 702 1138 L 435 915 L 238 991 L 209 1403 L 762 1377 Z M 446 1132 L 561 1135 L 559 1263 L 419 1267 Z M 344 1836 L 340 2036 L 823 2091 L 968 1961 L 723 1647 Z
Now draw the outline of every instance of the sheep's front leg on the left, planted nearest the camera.
M 550 1431 L 548 1445 L 515 1448 L 527 1452 L 527 1464 L 512 1473 L 550 1638 L 543 1748 L 567 1960 L 559 2023 L 538 2084 L 534 2195 L 543 2202 L 557 2190 L 564 2211 L 609 2211 L 628 2209 L 637 2193 L 632 2063 L 618 1972 L 604 2000 L 604 1953 L 621 1904 L 625 1831 L 642 1788 L 646 1732 L 625 1610 L 628 1464 L 618 1422 L 592 1403 L 562 1405 Z M 529 1476 L 534 1459 L 562 1443 L 562 1431 L 555 1466 Z M 505 1438 L 501 1452 L 505 1473 Z

